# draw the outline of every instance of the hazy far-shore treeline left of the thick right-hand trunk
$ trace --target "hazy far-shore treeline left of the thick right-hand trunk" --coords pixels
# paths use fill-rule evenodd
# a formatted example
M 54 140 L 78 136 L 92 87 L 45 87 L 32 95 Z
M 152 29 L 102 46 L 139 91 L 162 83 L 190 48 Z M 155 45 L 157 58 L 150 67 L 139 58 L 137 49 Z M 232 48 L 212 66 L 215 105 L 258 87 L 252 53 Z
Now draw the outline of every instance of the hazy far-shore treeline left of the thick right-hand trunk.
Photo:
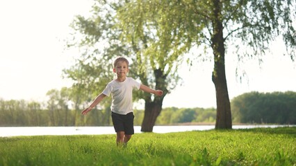
M 64 89 L 65 90 L 65 89 Z M 112 125 L 110 108 L 97 107 L 89 116 L 81 116 L 81 109 L 75 109 L 75 103 L 60 91 L 51 90 L 47 94 L 47 107 L 40 102 L 24 100 L 0 100 L 0 126 L 105 126 Z M 144 110 L 133 110 L 134 124 L 141 125 Z M 215 122 L 215 109 L 178 109 L 165 108 L 156 124 L 177 124 L 184 122 Z

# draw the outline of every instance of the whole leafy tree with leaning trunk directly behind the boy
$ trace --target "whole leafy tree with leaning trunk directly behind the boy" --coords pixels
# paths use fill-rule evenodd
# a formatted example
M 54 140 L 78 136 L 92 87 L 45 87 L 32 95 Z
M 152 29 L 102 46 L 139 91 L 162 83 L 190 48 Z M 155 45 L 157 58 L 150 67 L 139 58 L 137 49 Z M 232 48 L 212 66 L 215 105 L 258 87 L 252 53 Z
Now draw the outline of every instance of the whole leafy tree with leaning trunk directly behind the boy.
M 156 24 L 151 26 L 154 29 L 151 35 L 145 30 L 148 26 L 137 17 L 138 11 L 129 10 L 130 5 L 133 3 L 96 1 L 90 17 L 76 17 L 72 25 L 76 33 L 74 39 L 69 40 L 70 43 L 76 43 L 69 46 L 78 46 L 85 52 L 65 73 L 75 81 L 75 87 L 80 87 L 84 92 L 93 90 L 99 93 L 106 86 L 106 80 L 112 79 L 111 69 L 115 57 L 128 57 L 131 59 L 130 76 L 142 84 L 164 91 L 161 97 L 141 91 L 135 93 L 135 99 L 145 101 L 141 131 L 153 131 L 165 95 L 179 82 L 176 68 L 181 64 L 181 50 L 185 47 L 173 49 L 170 41 L 175 35 L 158 33 Z M 165 39 L 161 36 L 165 36 Z

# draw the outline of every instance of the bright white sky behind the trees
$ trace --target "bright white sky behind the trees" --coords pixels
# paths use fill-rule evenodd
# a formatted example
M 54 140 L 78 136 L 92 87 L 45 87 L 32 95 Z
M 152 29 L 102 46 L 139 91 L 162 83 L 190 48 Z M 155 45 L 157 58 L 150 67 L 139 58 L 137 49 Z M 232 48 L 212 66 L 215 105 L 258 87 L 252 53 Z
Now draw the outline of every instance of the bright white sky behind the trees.
M 42 102 L 47 91 L 71 86 L 62 71 L 79 50 L 65 49 L 69 24 L 75 15 L 89 15 L 91 6 L 92 0 L 0 1 L 0 98 Z M 256 60 L 240 64 L 240 71 L 247 73 L 241 82 L 235 72 L 236 55 L 227 54 L 230 100 L 251 91 L 296 91 L 296 62 L 284 53 L 278 39 L 261 66 Z M 212 71 L 213 62 L 196 63 L 190 70 L 184 63 L 179 67 L 182 84 L 165 96 L 163 107 L 216 107 Z

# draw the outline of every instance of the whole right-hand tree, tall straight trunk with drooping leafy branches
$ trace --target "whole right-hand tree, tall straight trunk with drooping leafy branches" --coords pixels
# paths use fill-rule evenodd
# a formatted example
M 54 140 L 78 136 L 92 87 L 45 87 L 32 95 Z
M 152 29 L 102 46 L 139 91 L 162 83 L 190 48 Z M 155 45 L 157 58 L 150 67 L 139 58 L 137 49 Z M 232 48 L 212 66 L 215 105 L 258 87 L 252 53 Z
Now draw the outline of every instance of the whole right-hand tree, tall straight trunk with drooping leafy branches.
M 135 13 L 130 12 L 136 10 Z M 135 27 L 142 24 L 157 25 L 154 28 L 140 28 L 137 42 L 142 41 L 141 34 L 150 31 L 151 35 L 169 34 L 174 37 L 169 41 L 166 35 L 158 35 L 159 41 L 172 45 L 171 51 L 183 47 L 179 53 L 185 53 L 193 46 L 210 49 L 213 53 L 212 81 L 215 84 L 217 116 L 215 129 L 231 129 L 231 107 L 225 73 L 227 45 L 237 48 L 239 59 L 256 57 L 261 59 L 268 50 L 270 42 L 282 36 L 291 59 L 295 58 L 295 0 L 171 0 L 171 1 L 132 1 L 126 20 L 138 19 Z M 295 25 L 294 25 L 295 26 Z M 157 29 L 156 29 L 157 28 Z M 134 32 L 134 31 L 133 31 Z M 162 44 L 159 42 L 158 44 Z M 147 50 L 153 51 L 150 45 Z M 188 49 L 186 49 L 188 48 Z M 158 46 L 159 51 L 167 47 Z M 150 52 L 151 52 L 150 51 Z M 185 52 L 184 52 L 185 51 Z M 149 52 L 149 53 L 150 53 Z M 205 51 L 206 53 L 206 51 Z M 156 54 L 154 59 L 161 58 Z

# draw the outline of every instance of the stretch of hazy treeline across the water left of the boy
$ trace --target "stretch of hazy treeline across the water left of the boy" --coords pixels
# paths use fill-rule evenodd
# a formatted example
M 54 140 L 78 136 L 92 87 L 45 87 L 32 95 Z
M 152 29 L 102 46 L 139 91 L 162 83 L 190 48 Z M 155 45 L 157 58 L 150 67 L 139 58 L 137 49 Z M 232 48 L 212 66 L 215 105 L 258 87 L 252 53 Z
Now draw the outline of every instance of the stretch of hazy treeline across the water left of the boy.
M 47 92 L 47 103 L 0 100 L 0 126 L 104 126 L 111 125 L 110 107 L 94 108 L 89 115 L 81 111 L 70 89 Z M 87 104 L 87 103 L 86 103 Z

